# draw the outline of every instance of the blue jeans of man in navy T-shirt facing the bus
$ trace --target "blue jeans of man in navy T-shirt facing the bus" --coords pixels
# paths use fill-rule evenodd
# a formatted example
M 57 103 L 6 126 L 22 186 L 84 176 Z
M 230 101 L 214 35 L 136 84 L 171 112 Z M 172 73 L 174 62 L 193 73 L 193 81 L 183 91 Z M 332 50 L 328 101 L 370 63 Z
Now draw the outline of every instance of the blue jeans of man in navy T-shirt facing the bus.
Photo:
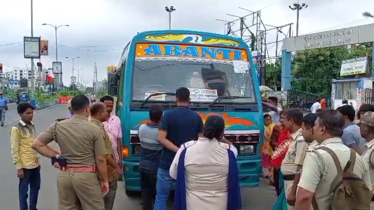
M 169 171 L 158 169 L 156 182 L 156 201 L 154 201 L 153 210 L 166 210 L 166 203 L 175 180 L 170 177 Z

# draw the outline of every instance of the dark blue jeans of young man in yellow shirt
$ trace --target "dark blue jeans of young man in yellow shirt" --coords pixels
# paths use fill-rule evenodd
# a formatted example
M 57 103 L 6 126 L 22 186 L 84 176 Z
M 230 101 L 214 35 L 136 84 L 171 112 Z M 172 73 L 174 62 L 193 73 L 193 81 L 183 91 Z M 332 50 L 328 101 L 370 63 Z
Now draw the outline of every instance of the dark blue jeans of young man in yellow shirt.
M 19 209 L 28 210 L 27 197 L 28 185 L 30 185 L 30 210 L 36 210 L 40 189 L 40 168 L 23 169 L 24 177 L 19 179 Z

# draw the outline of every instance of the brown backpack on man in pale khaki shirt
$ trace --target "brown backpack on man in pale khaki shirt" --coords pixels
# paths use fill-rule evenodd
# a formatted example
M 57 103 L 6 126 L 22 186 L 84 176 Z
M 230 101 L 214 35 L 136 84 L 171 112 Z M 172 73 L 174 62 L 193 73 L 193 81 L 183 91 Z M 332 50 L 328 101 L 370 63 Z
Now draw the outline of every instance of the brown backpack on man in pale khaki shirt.
M 365 182 L 353 173 L 353 167 L 356 162 L 356 152 L 350 149 L 350 159 L 344 170 L 335 152 L 331 149 L 321 146 L 316 149 L 322 149 L 331 155 L 338 175 L 335 177 L 331 186 L 330 204 L 332 210 L 370 210 L 371 198 L 373 193 L 369 190 Z M 314 210 L 319 210 L 315 197 L 312 200 Z

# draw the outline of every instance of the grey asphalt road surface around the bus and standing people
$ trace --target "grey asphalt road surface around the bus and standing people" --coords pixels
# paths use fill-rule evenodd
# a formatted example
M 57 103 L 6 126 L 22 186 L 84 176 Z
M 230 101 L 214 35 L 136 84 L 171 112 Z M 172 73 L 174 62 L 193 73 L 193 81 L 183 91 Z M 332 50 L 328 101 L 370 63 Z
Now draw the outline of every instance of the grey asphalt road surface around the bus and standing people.
M 42 111 L 35 111 L 33 122 L 36 125 L 36 133 L 39 134 L 46 129 L 55 119 L 63 118 L 67 115 L 66 105 L 55 105 Z M 19 120 L 16 105 L 10 104 L 6 113 L 4 127 L 0 127 L 2 136 L 0 145 L 0 209 L 16 210 L 18 207 L 18 178 L 16 168 L 12 164 L 10 154 L 9 129 Z M 52 142 L 51 146 L 56 146 Z M 57 189 L 56 176 L 58 171 L 50 165 L 50 160 L 45 157 L 40 158 L 42 166 L 42 186 L 39 192 L 39 210 L 57 209 Z M 125 195 L 122 182 L 119 182 L 114 210 L 140 210 L 140 196 L 129 198 Z M 243 210 L 270 210 L 272 203 L 276 200 L 276 193 L 272 186 L 261 181 L 258 188 L 242 190 Z M 171 202 L 170 205 L 171 206 Z M 172 209 L 169 207 L 169 209 Z

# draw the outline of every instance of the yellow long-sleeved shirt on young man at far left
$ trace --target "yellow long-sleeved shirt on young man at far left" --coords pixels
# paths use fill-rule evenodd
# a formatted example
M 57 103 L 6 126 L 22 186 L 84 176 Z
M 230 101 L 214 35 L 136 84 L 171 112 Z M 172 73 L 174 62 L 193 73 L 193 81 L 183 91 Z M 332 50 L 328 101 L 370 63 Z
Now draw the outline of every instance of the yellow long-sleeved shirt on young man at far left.
M 34 169 L 39 166 L 39 156 L 31 148 L 35 140 L 35 126 L 19 120 L 16 126 L 10 129 L 10 147 L 13 164 L 17 169 Z

